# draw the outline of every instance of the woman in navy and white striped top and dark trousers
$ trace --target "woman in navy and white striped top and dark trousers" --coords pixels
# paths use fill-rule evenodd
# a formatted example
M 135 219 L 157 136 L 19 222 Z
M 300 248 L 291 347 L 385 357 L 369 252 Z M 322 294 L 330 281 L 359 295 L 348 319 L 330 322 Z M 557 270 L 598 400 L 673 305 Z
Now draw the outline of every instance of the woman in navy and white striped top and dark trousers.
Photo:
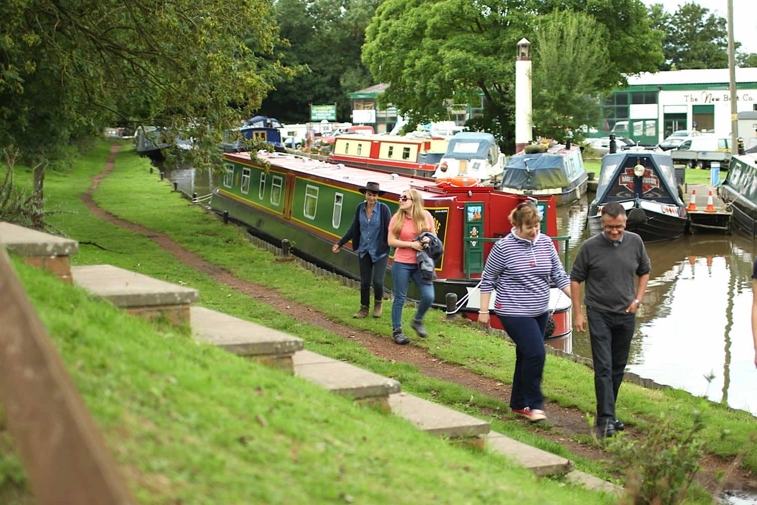
M 539 232 L 536 206 L 524 202 L 512 210 L 512 230 L 491 248 L 481 274 L 478 320 L 489 323 L 491 292 L 497 290 L 494 314 L 516 343 L 510 408 L 531 422 L 546 419 L 542 410 L 544 330 L 550 317 L 550 278 L 570 298 L 570 279 L 552 239 Z

